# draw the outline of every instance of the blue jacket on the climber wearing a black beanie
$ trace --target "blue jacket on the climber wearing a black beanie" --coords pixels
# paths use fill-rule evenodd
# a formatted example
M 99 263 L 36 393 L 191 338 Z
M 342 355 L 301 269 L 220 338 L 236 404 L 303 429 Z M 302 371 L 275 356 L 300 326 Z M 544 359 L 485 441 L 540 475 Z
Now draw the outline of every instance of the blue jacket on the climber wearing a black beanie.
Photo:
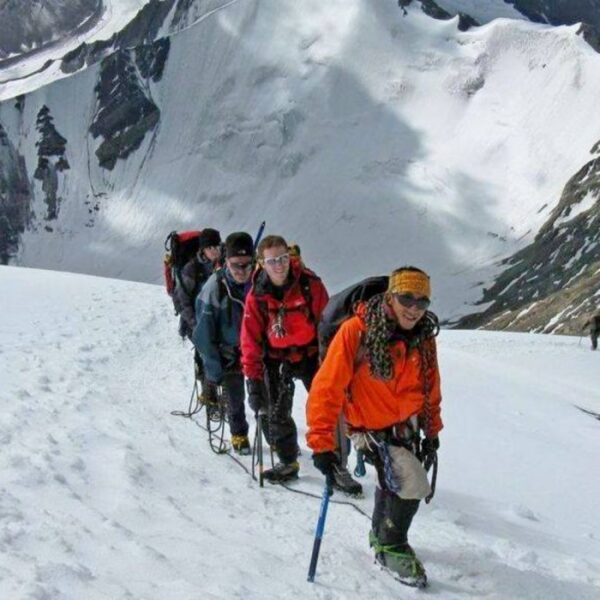
M 202 357 L 206 378 L 213 383 L 220 383 L 225 371 L 241 370 L 240 330 L 250 285 L 237 283 L 226 268 L 219 269 L 196 299 L 192 341 Z

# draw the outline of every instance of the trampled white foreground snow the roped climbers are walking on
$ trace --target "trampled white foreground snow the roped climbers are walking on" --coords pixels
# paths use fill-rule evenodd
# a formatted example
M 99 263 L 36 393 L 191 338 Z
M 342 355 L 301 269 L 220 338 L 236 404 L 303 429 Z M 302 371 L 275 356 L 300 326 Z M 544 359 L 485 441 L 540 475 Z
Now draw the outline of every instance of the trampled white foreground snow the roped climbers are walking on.
M 170 415 L 191 348 L 157 286 L 0 267 L 0 597 L 414 598 L 374 564 L 369 519 L 332 503 L 306 582 L 322 477 L 260 489 Z M 600 369 L 587 340 L 443 331 L 440 470 L 411 542 L 444 599 L 600 594 Z M 241 459 L 246 467 L 250 458 Z M 354 457 L 351 457 L 351 466 Z M 368 467 L 366 513 L 373 502 Z M 334 501 L 348 500 L 335 494 Z

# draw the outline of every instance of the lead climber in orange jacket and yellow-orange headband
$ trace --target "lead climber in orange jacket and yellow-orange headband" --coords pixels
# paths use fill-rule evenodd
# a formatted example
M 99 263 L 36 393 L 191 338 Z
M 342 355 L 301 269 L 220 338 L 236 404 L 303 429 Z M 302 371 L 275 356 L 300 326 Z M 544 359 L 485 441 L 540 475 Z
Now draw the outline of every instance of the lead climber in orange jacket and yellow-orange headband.
M 369 534 L 376 560 L 403 583 L 419 587 L 427 579 L 408 530 L 419 502 L 431 494 L 426 468 L 437 461 L 442 429 L 439 326 L 427 311 L 430 298 L 426 273 L 415 267 L 394 271 L 387 291 L 342 323 L 306 407 L 308 445 L 328 478 L 339 461 L 335 429 L 343 412 L 354 445 L 377 470 Z

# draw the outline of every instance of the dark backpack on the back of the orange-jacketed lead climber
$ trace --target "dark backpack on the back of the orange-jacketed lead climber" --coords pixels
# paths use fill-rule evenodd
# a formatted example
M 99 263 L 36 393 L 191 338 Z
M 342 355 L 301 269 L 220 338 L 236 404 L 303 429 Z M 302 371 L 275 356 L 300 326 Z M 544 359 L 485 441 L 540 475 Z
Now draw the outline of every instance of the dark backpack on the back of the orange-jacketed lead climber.
M 354 316 L 356 305 L 385 292 L 388 287 L 388 279 L 387 275 L 367 277 L 329 298 L 318 326 L 321 361 L 325 358 L 329 344 L 342 323 Z

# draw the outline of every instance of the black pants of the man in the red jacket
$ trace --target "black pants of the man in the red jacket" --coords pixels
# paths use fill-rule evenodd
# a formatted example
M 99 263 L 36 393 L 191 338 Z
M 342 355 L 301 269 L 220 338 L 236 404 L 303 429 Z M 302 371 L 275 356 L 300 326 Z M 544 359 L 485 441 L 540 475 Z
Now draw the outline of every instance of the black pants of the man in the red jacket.
M 290 363 L 270 359 L 265 365 L 265 383 L 268 391 L 267 414 L 261 417 L 261 426 L 267 443 L 273 446 L 281 462 L 290 463 L 298 458 L 298 429 L 292 417 L 295 383 L 302 381 L 306 391 L 319 368 L 317 354 Z

